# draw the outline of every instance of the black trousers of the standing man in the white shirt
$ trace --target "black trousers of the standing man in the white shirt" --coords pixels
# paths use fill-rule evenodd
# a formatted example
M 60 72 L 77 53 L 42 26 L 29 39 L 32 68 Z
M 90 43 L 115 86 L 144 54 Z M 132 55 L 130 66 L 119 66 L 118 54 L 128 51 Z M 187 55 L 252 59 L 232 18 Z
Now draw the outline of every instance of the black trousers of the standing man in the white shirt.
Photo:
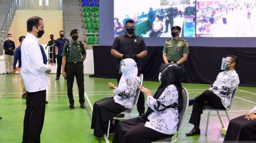
M 44 125 L 46 90 L 27 92 L 22 143 L 40 143 Z

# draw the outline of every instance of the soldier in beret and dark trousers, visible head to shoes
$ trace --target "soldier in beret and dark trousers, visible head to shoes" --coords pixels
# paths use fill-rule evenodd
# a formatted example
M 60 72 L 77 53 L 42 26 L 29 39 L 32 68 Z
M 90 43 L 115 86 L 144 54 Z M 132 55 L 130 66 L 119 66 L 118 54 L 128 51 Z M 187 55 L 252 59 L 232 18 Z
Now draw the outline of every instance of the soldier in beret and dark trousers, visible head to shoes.
M 62 75 L 67 77 L 67 95 L 70 104 L 69 108 L 75 108 L 73 99 L 74 78 L 77 80 L 80 108 L 85 108 L 84 60 L 86 58 L 86 48 L 83 42 L 77 40 L 79 37 L 78 29 L 73 29 L 70 32 L 70 36 L 72 37 L 72 41 L 65 43 L 62 51 Z

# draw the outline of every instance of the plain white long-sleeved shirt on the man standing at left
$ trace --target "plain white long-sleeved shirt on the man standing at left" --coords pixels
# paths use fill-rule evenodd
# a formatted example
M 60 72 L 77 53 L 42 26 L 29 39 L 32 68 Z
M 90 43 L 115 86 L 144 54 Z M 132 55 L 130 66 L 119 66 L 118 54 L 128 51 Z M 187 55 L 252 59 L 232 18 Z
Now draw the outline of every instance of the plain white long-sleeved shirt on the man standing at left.
M 42 52 L 38 45 L 38 39 L 28 33 L 21 45 L 22 78 L 28 92 L 46 90 L 48 81 L 46 71 L 49 69 L 44 64 Z

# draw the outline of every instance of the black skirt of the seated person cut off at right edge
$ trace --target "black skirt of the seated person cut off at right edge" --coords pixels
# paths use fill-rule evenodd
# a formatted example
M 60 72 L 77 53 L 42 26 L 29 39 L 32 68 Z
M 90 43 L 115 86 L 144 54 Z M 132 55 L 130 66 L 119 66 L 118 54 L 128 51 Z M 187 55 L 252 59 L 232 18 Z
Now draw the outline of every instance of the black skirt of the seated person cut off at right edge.
M 247 120 L 245 115 L 232 119 L 229 122 L 224 143 L 237 141 L 256 141 L 256 120 Z

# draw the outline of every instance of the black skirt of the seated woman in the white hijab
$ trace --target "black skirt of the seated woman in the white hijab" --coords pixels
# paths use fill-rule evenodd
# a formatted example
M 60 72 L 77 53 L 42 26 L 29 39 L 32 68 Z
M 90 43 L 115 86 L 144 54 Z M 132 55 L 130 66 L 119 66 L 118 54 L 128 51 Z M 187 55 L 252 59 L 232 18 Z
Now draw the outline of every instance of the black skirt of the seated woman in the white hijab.
M 92 125 L 95 136 L 103 136 L 107 132 L 109 120 L 127 110 L 124 106 L 115 102 L 113 97 L 96 101 L 92 112 Z

